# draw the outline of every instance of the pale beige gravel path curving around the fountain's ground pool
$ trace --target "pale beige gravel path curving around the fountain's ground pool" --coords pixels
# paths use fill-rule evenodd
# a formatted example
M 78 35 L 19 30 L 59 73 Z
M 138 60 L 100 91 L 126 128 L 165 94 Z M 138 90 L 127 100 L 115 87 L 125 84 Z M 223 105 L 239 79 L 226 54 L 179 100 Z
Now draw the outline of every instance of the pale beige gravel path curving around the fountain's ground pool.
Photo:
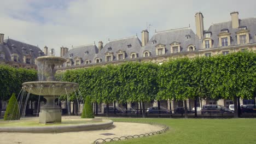
M 0 143 L 93 143 L 96 139 L 106 139 L 108 137 L 120 137 L 136 134 L 144 134 L 161 130 L 158 125 L 141 124 L 141 123 L 123 123 L 114 122 L 113 127 L 106 130 L 91 130 L 69 133 L 51 133 L 51 134 L 32 134 L 32 133 L 0 133 Z M 114 135 L 102 135 L 110 133 Z

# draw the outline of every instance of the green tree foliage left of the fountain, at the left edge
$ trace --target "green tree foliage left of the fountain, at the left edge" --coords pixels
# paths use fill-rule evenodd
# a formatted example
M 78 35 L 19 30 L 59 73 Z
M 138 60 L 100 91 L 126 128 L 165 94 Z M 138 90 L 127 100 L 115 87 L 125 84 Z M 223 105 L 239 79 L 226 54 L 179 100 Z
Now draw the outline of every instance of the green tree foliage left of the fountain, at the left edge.
M 18 94 L 23 82 L 36 81 L 37 71 L 0 65 L 0 100 L 8 100 L 12 93 Z

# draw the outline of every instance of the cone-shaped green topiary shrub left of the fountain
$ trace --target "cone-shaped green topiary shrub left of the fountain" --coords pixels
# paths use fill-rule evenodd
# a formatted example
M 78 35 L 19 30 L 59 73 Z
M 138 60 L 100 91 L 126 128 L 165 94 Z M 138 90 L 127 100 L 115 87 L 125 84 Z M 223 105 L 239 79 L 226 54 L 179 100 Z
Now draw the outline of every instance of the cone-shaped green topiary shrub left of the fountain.
M 18 102 L 15 97 L 15 93 L 13 93 L 13 95 L 11 95 L 11 98 L 9 99 L 8 106 L 4 113 L 4 121 L 16 120 L 16 119 L 19 119 L 19 109 L 18 109 Z

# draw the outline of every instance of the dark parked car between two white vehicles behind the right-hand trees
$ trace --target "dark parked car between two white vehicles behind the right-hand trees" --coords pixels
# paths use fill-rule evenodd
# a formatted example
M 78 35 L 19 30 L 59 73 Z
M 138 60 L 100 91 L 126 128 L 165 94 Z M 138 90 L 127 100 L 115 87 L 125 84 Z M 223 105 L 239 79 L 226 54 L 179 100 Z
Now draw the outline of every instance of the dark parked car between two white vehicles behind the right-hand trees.
M 233 113 L 233 111 L 229 110 L 228 108 L 222 106 L 222 105 L 203 105 L 202 114 L 207 113 Z

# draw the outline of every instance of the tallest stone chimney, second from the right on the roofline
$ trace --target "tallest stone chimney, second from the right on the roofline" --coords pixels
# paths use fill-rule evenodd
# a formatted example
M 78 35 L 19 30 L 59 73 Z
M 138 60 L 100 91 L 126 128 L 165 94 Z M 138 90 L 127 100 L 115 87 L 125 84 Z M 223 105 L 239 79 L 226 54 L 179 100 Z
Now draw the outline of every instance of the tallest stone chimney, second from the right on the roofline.
M 201 12 L 195 14 L 196 21 L 196 35 L 199 39 L 203 37 L 203 15 Z

